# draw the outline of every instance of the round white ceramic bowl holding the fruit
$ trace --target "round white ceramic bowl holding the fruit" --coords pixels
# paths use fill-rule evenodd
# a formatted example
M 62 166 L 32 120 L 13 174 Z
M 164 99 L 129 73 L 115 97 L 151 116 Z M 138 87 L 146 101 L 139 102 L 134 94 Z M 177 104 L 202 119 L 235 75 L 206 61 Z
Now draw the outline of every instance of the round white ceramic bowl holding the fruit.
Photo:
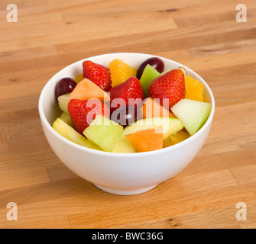
M 143 53 L 109 53 L 87 59 L 104 66 L 109 66 L 113 59 L 122 59 L 125 63 L 138 68 L 145 59 L 150 57 L 152 55 Z M 164 60 L 166 69 L 183 66 L 170 59 L 160 58 Z M 53 121 L 61 114 L 55 98 L 55 85 L 63 77 L 79 75 L 83 70 L 84 60 L 86 59 L 73 63 L 53 75 L 44 86 L 39 98 L 38 108 L 44 134 L 53 152 L 63 164 L 76 175 L 92 182 L 103 191 L 123 195 L 149 191 L 183 170 L 205 143 L 212 124 L 215 101 L 206 82 L 196 72 L 183 66 L 188 75 L 203 83 L 204 95 L 212 104 L 212 111 L 206 124 L 193 136 L 174 146 L 151 152 L 102 152 L 66 140 L 51 127 Z

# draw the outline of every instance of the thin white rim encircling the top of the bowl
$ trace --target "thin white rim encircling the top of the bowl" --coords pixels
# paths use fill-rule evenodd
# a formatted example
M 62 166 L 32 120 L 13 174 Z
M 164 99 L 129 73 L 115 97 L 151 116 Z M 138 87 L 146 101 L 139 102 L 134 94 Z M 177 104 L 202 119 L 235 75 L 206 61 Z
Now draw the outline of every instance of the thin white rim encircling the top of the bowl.
M 77 143 L 73 143 L 72 141 L 66 139 L 64 136 L 61 136 L 60 133 L 57 133 L 56 130 L 53 129 L 53 127 L 50 125 L 50 123 L 48 122 L 47 118 L 45 117 L 44 114 L 44 109 L 43 109 L 43 97 L 44 97 L 44 93 L 47 91 L 47 88 L 51 85 L 52 81 L 54 80 L 55 76 L 57 76 L 60 72 L 63 71 L 63 69 L 68 69 L 68 67 L 70 66 L 75 66 L 76 63 L 82 63 L 84 60 L 88 60 L 88 59 L 92 59 L 92 58 L 101 58 L 102 56 L 110 56 L 110 55 L 144 55 L 144 56 L 148 56 L 148 58 L 155 56 L 155 57 L 159 57 L 160 59 L 163 59 L 165 61 L 171 61 L 173 63 L 175 63 L 177 66 L 183 66 L 185 69 L 189 69 L 191 73 L 193 73 L 194 75 L 197 75 L 199 77 L 200 82 L 203 82 L 204 87 L 207 88 L 208 92 L 209 92 L 209 98 L 210 98 L 210 102 L 212 104 L 212 108 L 211 108 L 211 112 L 209 114 L 209 117 L 206 120 L 206 123 L 203 125 L 203 127 L 201 127 L 195 134 L 193 134 L 192 136 L 190 136 L 189 138 L 187 138 L 186 140 L 183 140 L 180 143 L 177 143 L 173 146 L 168 146 L 166 148 L 163 149 L 157 149 L 154 151 L 150 151 L 150 152 L 105 152 L 105 151 L 99 151 L 96 149 L 90 149 L 87 148 L 86 146 L 81 146 Z M 212 123 L 212 119 L 213 119 L 213 115 L 215 113 L 215 98 L 214 95 L 212 93 L 211 88 L 209 87 L 209 85 L 206 83 L 206 81 L 196 72 L 194 72 L 192 69 L 190 69 L 187 66 L 184 66 L 182 63 L 178 63 L 172 59 L 167 59 L 163 56 L 157 56 L 157 55 L 153 55 L 153 54 L 147 54 L 147 53 L 105 53 L 105 54 L 100 54 L 100 55 L 96 55 L 96 56 L 90 56 L 87 57 L 85 59 L 80 59 L 79 61 L 76 61 L 74 63 L 71 63 L 69 66 L 65 66 L 63 69 L 60 69 L 57 73 L 55 73 L 48 81 L 47 83 L 44 85 L 44 88 L 41 91 L 39 100 L 38 100 L 38 111 L 39 111 L 39 116 L 41 118 L 41 123 L 44 124 L 44 127 L 47 128 L 47 130 L 53 134 L 53 136 L 56 136 L 59 140 L 62 140 L 64 143 L 68 144 L 71 147 L 74 147 L 76 149 L 80 149 L 84 152 L 89 152 L 92 154 L 97 154 L 97 155 L 102 155 L 102 156 L 112 156 L 112 157 L 141 157 L 141 156 L 151 156 L 151 154 L 157 154 L 157 153 L 162 153 L 164 151 L 172 151 L 174 149 L 176 149 L 177 147 L 186 145 L 187 143 L 190 143 L 191 140 L 195 140 L 196 137 L 198 137 L 200 134 L 203 133 L 204 130 L 206 130 L 207 127 L 210 126 L 210 124 Z

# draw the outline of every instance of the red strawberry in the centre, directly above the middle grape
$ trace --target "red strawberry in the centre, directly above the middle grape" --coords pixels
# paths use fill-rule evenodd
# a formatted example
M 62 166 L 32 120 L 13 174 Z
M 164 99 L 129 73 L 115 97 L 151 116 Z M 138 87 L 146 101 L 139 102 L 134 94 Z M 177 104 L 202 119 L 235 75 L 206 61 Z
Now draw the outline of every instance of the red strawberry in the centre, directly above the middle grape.
M 109 93 L 112 112 L 125 105 L 141 106 L 142 101 L 144 100 L 144 92 L 141 82 L 134 76 L 131 76 L 126 82 L 113 87 Z

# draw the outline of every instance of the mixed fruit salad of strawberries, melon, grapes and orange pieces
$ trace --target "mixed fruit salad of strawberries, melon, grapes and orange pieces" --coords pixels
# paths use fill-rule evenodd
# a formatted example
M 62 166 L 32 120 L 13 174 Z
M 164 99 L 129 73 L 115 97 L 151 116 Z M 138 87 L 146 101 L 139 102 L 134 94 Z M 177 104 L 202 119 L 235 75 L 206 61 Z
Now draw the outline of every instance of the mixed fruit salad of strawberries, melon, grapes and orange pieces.
M 138 67 L 121 59 L 109 66 L 83 62 L 83 73 L 63 77 L 55 95 L 62 114 L 53 129 L 66 139 L 105 152 L 149 152 L 193 136 L 211 104 L 203 84 L 159 57 Z

